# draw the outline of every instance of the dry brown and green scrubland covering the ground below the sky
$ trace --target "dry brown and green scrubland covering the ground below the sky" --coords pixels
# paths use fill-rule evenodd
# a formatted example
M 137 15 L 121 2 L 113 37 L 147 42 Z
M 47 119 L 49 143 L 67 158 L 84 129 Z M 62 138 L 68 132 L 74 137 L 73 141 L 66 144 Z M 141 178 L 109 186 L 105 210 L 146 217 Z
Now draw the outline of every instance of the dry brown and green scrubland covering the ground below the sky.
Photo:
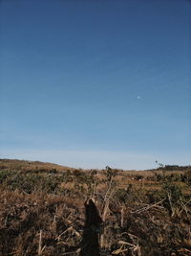
M 75 170 L 0 160 L 0 255 L 78 255 L 84 201 L 102 219 L 100 255 L 191 255 L 191 167 Z

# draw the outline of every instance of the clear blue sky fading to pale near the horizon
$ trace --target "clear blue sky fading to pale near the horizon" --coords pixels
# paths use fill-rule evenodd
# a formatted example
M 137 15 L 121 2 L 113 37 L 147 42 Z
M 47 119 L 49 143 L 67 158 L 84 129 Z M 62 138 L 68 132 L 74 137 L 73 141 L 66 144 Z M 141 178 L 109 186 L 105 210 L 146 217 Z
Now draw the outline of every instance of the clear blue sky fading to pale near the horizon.
M 0 2 L 0 157 L 191 163 L 191 2 Z

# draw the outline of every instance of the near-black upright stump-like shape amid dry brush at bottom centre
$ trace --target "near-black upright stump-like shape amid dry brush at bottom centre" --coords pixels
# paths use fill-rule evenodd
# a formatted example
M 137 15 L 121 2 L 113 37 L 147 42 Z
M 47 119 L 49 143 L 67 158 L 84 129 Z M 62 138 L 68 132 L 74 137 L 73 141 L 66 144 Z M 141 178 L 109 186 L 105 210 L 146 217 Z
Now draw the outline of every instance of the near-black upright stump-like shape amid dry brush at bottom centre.
M 85 201 L 85 225 L 80 256 L 100 256 L 98 234 L 102 220 L 92 199 Z

